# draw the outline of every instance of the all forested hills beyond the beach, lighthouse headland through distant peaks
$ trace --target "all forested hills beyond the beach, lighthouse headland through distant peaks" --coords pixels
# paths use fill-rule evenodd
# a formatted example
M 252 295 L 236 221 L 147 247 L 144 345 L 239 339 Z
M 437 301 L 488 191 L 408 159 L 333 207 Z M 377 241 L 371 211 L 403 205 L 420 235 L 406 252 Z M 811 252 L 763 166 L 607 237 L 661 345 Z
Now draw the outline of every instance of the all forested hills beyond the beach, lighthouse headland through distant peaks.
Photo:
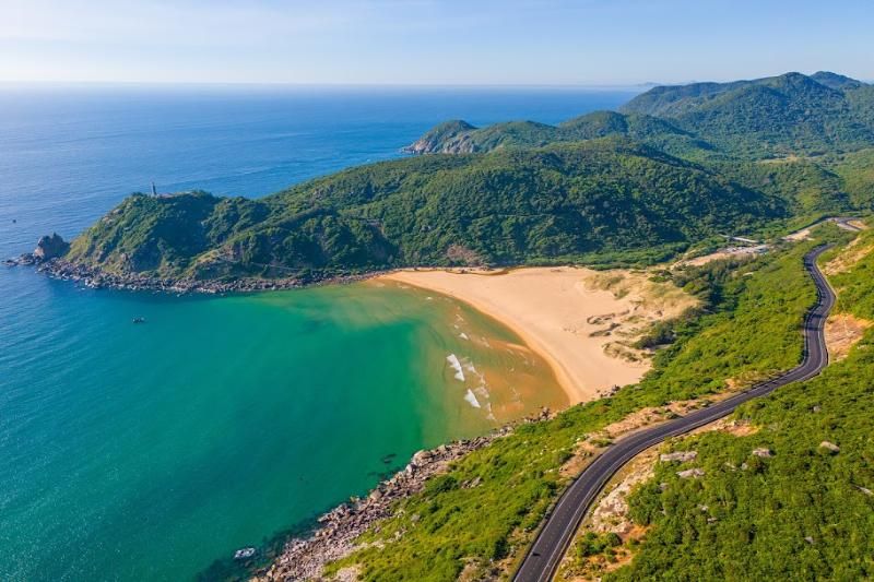
M 558 126 L 441 123 L 451 152 L 258 201 L 135 194 L 68 259 L 114 273 L 302 282 L 418 265 L 645 265 L 720 234 L 872 210 L 874 87 L 834 73 L 656 87 Z M 819 155 L 822 154 L 822 155 Z

